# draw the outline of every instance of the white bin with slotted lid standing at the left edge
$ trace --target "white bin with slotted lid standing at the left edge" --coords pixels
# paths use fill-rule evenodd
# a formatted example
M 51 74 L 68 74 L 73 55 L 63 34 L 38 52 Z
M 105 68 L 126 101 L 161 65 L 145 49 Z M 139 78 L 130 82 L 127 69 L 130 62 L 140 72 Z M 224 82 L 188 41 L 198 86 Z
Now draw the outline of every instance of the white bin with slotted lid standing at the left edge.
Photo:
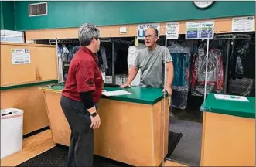
M 17 108 L 1 110 L 1 159 L 22 150 L 23 113 Z

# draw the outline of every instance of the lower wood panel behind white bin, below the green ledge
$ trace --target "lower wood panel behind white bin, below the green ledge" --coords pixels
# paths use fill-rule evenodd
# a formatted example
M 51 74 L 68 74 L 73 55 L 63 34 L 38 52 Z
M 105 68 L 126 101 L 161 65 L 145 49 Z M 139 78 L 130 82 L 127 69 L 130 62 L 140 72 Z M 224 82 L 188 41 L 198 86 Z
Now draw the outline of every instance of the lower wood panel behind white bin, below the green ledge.
M 39 87 L 1 90 L 1 108 L 24 110 L 23 135 L 49 126 L 43 92 Z

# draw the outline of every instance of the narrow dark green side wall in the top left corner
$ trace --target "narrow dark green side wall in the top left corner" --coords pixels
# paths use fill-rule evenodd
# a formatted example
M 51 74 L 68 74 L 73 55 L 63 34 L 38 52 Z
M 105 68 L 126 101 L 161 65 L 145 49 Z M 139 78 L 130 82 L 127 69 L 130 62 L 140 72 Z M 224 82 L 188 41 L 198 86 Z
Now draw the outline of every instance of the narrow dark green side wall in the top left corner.
M 1 19 L 1 29 L 15 29 L 15 12 L 14 12 L 14 2 L 1 1 L 0 6 L 0 19 Z

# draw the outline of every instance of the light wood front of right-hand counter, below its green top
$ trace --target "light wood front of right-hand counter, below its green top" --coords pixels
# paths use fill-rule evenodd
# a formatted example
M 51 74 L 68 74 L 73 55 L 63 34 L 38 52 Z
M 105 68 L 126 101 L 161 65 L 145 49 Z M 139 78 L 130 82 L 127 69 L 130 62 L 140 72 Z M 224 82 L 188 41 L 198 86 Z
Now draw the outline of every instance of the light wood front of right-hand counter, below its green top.
M 254 166 L 255 119 L 206 112 L 201 166 Z

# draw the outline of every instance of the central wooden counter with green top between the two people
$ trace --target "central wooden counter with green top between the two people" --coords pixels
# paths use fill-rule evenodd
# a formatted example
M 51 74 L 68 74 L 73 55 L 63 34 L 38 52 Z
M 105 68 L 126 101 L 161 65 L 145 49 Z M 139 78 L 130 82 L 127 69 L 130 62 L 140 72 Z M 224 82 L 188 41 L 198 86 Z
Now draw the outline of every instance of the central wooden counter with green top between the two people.
M 63 86 L 41 87 L 53 141 L 69 145 L 70 127 L 60 107 L 62 89 Z M 125 90 L 132 94 L 102 97 L 99 101 L 101 128 L 94 131 L 94 154 L 129 165 L 159 166 L 168 152 L 169 98 L 163 97 L 162 89 Z

